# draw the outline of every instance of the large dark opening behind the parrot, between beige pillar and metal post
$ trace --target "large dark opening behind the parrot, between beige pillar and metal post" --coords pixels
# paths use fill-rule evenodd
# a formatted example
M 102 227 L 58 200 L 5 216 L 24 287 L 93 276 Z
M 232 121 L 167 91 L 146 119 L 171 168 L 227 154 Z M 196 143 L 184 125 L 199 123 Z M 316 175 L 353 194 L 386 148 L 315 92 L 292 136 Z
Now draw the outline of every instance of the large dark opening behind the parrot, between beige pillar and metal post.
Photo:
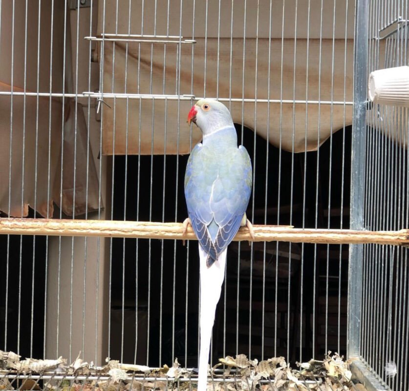
M 241 140 L 240 126 L 237 126 L 237 131 L 238 139 Z M 243 144 L 252 157 L 252 164 L 256 170 L 254 217 L 252 199 L 247 212 L 253 223 L 264 224 L 267 182 L 267 224 L 278 222 L 289 224 L 291 216 L 291 223 L 295 227 L 340 228 L 342 212 L 343 227 L 348 228 L 350 133 L 350 127 L 335 132 L 332 140 L 328 139 L 323 143 L 318 152 L 292 154 L 281 151 L 280 154 L 278 148 L 266 143 L 259 136 L 254 137 L 252 130 L 244 128 Z M 267 152 L 268 164 L 266 164 Z M 187 217 L 183 189 L 187 159 L 188 156 L 172 155 L 115 156 L 113 158 L 115 189 L 113 219 L 174 221 L 176 216 L 177 221 L 183 221 Z M 127 166 L 127 173 L 125 173 L 125 166 Z M 137 209 L 138 169 L 139 209 Z M 278 186 L 279 174 L 280 187 Z M 163 203 L 163 195 L 165 195 L 165 203 Z M 279 195 L 280 219 L 278 220 Z M 292 208 L 290 208 L 291 198 Z M 282 355 L 292 362 L 299 359 L 301 308 L 302 357 L 306 360 L 312 357 L 313 345 L 315 357 L 318 359 L 323 357 L 326 350 L 345 353 L 348 246 L 315 246 L 314 244 L 302 246 L 301 243 L 290 246 L 288 243 L 280 243 L 277 247 L 276 242 L 271 242 L 266 244 L 266 248 L 263 300 L 264 245 L 261 243 L 260 247 L 258 243 L 254 246 L 253 263 L 250 266 L 250 247 L 244 242 L 241 244 L 237 325 L 237 243 L 232 243 L 230 246 L 227 280 L 224 285 L 226 319 L 224 319 L 224 291 L 222 291 L 215 320 L 213 363 L 215 364 L 217 358 L 224 355 L 235 355 L 237 352 L 248 354 L 250 333 L 251 356 L 261 358 L 263 307 L 265 311 L 264 358 Z M 277 248 L 278 264 L 276 263 Z M 186 273 L 187 251 L 189 251 L 188 275 Z M 302 265 L 301 252 L 304 260 Z M 315 254 L 316 262 L 314 262 Z M 291 263 L 290 269 L 289 263 Z M 250 272 L 253 277 L 251 287 Z M 289 274 L 291 274 L 290 286 Z M 136 362 L 139 364 L 158 366 L 164 363 L 169 365 L 174 357 L 178 357 L 181 365 L 196 367 L 198 279 L 198 251 L 195 241 L 190 242 L 189 247 L 183 247 L 181 241 L 174 240 L 112 239 L 111 358 L 134 362 L 136 357 Z M 290 294 L 288 294 L 289 291 Z M 123 348 L 120 341 L 122 323 L 124 323 L 126 341 Z M 226 324 L 225 339 L 224 324 Z M 275 337 L 276 326 L 277 338 Z M 138 341 L 135 356 L 136 329 Z

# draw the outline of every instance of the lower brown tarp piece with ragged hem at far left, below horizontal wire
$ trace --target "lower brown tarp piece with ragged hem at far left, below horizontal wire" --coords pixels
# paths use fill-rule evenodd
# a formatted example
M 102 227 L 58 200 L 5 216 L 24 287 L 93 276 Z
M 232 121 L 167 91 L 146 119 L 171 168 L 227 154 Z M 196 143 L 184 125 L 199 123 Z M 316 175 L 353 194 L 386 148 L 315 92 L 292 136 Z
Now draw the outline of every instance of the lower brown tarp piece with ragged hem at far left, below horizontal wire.
M 0 89 L 10 91 L 10 86 L 1 85 Z M 24 104 L 22 96 L 14 96 L 11 126 L 10 96 L 0 96 L 0 210 L 10 216 L 27 216 L 28 205 L 44 217 L 52 216 L 61 131 L 51 131 L 51 138 L 48 131 L 50 118 L 51 129 L 61 129 L 61 108 L 61 103 L 53 100 L 50 116 L 49 98 L 42 97 L 37 113 L 36 97 L 26 97 Z

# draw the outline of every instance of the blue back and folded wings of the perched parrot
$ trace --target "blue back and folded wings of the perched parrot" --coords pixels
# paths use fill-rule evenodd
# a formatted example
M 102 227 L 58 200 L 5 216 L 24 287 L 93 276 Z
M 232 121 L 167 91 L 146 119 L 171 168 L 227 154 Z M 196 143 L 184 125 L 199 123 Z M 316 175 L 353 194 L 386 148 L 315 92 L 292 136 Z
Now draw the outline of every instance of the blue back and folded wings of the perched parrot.
M 233 128 L 234 130 L 234 128 Z M 234 130 L 235 131 L 235 130 Z M 192 228 L 209 255 L 207 265 L 236 236 L 246 212 L 252 186 L 250 157 L 244 147 L 220 153 L 197 144 L 186 167 L 185 196 Z

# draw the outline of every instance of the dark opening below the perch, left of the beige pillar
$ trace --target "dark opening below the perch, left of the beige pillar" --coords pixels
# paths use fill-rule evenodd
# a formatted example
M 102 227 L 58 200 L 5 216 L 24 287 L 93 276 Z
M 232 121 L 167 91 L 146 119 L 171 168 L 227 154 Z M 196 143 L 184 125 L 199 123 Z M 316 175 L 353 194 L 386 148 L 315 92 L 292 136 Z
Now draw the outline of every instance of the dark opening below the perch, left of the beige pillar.
M 0 253 L 1 350 L 43 357 L 46 237 L 0 235 Z

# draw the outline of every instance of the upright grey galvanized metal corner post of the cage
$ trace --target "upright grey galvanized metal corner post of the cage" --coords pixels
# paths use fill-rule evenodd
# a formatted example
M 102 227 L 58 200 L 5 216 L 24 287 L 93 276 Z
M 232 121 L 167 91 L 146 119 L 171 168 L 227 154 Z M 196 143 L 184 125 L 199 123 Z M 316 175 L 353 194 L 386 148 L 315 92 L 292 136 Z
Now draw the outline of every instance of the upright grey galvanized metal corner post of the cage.
M 350 228 L 364 229 L 368 0 L 356 0 Z M 347 356 L 359 357 L 363 245 L 349 246 Z

